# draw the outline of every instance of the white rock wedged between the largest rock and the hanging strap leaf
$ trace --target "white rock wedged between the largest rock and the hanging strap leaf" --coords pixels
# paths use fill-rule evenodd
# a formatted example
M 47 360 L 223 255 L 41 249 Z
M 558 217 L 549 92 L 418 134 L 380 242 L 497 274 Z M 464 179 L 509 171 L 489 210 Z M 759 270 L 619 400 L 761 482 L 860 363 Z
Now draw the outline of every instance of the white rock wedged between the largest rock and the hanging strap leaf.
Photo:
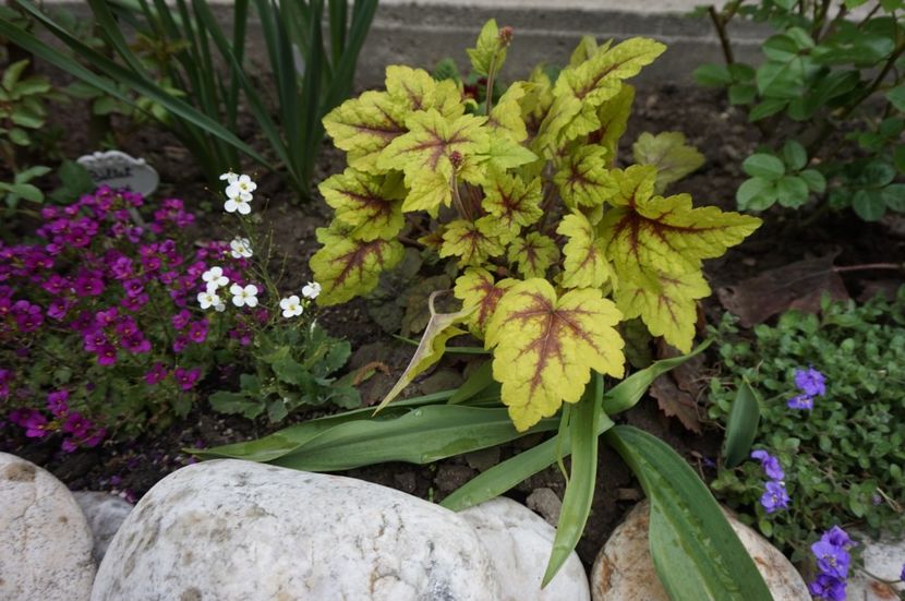
M 575 552 L 541 589 L 556 529 L 524 505 L 497 497 L 459 515 L 487 549 L 499 584 L 499 601 L 590 601 L 588 576 Z

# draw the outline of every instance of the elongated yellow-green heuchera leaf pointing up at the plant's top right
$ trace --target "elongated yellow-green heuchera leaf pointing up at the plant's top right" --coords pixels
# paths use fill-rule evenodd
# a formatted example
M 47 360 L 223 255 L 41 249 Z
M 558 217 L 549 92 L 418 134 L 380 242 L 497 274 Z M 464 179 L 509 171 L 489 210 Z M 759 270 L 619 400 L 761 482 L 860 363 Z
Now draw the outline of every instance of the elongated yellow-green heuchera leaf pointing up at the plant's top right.
M 596 109 L 619 93 L 623 80 L 653 62 L 666 47 L 636 37 L 613 48 L 600 48 L 590 59 L 559 73 L 553 106 L 541 125 L 538 147 L 555 151 L 570 140 L 600 128 Z

